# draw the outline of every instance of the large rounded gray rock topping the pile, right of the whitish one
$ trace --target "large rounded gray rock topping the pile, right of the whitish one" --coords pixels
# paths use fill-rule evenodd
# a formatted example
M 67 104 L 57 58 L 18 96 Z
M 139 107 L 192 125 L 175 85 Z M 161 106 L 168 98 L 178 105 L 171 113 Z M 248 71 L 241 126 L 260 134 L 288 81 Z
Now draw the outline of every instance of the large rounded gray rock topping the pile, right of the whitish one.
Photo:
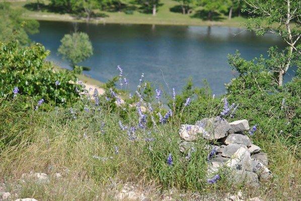
M 223 138 L 229 134 L 231 129 L 227 120 L 220 117 L 205 118 L 196 122 L 197 126 L 205 129 L 203 137 L 207 140 L 217 140 Z

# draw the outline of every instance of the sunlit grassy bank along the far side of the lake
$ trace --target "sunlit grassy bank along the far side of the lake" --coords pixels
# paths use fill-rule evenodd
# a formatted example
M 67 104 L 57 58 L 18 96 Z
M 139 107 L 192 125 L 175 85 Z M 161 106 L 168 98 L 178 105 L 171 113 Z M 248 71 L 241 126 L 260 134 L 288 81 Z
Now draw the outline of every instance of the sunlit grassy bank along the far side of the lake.
M 11 2 L 14 8 L 24 8 L 25 5 L 35 1 L 14 1 Z M 45 1 L 47 4 L 47 1 Z M 162 6 L 159 7 L 156 16 L 133 11 L 132 14 L 124 12 L 101 12 L 103 18 L 92 19 L 90 23 L 117 23 L 117 24 L 154 24 L 154 25 L 193 25 L 193 26 L 229 26 L 240 27 L 245 18 L 234 17 L 228 20 L 226 16 L 220 16 L 217 21 L 202 20 L 195 14 L 183 15 L 181 13 L 172 12 L 171 9 L 179 4 L 172 0 L 162 0 Z M 200 9 L 200 8 L 199 8 Z M 199 11 L 196 9 L 196 12 Z M 69 22 L 86 22 L 85 19 L 79 19 L 69 14 L 50 13 L 48 11 L 29 11 L 26 10 L 24 18 L 46 21 L 69 21 Z

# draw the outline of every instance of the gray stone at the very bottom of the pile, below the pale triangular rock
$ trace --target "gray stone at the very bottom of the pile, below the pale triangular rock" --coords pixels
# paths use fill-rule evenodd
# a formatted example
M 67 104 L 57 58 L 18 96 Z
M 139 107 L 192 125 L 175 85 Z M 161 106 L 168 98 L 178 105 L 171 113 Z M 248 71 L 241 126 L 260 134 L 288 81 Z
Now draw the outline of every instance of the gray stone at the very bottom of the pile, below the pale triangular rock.
M 236 185 L 244 184 L 250 187 L 259 187 L 258 176 L 254 172 L 235 170 L 232 172 L 232 177 L 230 179 L 232 183 Z

